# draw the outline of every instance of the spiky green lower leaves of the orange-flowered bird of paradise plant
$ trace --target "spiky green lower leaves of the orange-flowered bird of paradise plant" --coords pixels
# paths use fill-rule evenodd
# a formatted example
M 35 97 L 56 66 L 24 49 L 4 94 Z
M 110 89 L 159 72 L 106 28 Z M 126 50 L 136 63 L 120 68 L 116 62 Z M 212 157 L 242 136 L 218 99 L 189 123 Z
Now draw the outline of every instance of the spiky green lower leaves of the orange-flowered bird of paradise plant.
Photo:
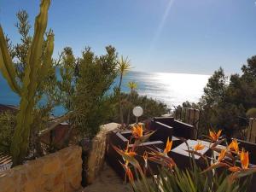
M 134 192 L 244 192 L 249 183 L 247 179 L 230 183 L 224 173 L 215 176 L 202 174 L 196 164 L 193 169 L 180 170 L 175 167 L 173 171 L 160 168 L 158 177 L 153 178 L 154 183 L 139 179 L 137 183 L 132 183 Z

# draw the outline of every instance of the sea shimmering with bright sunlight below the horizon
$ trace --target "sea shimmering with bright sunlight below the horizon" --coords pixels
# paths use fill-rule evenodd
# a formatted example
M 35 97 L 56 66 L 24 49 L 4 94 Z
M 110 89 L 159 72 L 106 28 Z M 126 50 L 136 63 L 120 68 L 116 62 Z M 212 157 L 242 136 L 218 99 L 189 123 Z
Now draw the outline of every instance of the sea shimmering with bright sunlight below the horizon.
M 128 82 L 134 81 L 137 83 L 139 95 L 165 102 L 169 108 L 172 108 L 186 101 L 198 102 L 209 77 L 201 74 L 129 72 L 124 77 L 121 89 L 128 92 Z M 2 75 L 0 76 L 0 103 L 19 104 L 19 97 L 9 89 Z M 56 108 L 54 113 L 59 115 L 63 113 L 63 109 Z

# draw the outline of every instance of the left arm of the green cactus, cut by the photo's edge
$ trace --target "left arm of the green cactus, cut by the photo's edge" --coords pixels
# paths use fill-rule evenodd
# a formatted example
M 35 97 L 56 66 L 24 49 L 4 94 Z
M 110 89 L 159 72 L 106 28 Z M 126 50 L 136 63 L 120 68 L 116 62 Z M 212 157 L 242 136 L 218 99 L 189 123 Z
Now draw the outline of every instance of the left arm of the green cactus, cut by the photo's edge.
M 2 26 L 0 26 L 0 71 L 7 80 L 10 88 L 20 95 L 20 86 L 16 82 L 17 73 L 15 72 L 15 67 L 9 55 Z

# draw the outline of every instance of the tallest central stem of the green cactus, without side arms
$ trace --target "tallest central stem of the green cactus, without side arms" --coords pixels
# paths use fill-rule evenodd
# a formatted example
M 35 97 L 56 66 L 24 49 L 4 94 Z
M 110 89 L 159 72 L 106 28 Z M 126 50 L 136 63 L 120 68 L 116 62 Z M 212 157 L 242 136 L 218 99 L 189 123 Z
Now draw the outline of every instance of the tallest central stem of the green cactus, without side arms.
M 50 0 L 43 0 L 41 2 L 40 13 L 35 20 L 34 35 L 28 53 L 28 62 L 21 90 L 20 111 L 17 115 L 17 125 L 15 127 L 13 142 L 11 143 L 11 154 L 14 165 L 21 164 L 27 153 L 49 4 Z

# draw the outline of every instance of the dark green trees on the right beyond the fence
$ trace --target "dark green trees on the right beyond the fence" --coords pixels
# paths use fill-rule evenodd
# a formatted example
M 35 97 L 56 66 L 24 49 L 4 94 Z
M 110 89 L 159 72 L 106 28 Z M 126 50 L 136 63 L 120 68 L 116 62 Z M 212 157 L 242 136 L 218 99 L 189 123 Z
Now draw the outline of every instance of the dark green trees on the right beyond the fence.
M 200 102 L 183 103 L 183 107 L 201 109 L 201 134 L 212 127 L 223 129 L 228 137 L 245 137 L 241 119 L 245 119 L 247 111 L 255 106 L 256 56 L 241 67 L 241 75 L 232 74 L 228 78 L 219 68 L 208 80 Z

